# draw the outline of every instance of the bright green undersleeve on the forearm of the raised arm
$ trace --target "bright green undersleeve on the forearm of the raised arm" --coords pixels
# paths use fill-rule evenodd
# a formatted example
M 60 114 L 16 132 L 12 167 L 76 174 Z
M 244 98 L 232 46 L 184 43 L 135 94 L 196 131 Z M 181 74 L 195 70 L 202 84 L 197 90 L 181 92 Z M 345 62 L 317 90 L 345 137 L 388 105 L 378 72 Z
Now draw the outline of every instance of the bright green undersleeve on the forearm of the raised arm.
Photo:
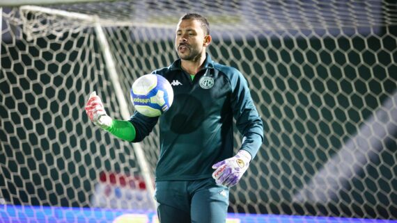
M 136 131 L 135 127 L 130 121 L 125 120 L 113 120 L 111 126 L 106 129 L 109 133 L 120 138 L 122 140 L 127 140 L 131 142 L 135 139 Z

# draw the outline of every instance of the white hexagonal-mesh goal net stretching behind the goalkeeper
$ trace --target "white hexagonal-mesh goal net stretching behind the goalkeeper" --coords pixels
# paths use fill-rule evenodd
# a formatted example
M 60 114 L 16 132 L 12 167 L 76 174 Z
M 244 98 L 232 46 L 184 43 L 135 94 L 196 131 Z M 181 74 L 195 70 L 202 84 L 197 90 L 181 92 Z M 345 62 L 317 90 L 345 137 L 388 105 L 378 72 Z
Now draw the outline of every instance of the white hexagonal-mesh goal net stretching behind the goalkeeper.
M 130 85 L 176 60 L 178 19 L 198 12 L 210 21 L 212 59 L 244 74 L 264 122 L 263 145 L 231 188 L 228 211 L 396 219 L 396 7 L 147 0 L 3 8 L 0 201 L 152 210 L 151 182 L 143 182 L 157 162 L 158 126 L 133 146 L 93 126 L 83 108 L 96 90 L 111 117 L 132 114 Z M 236 150 L 241 141 L 236 131 Z

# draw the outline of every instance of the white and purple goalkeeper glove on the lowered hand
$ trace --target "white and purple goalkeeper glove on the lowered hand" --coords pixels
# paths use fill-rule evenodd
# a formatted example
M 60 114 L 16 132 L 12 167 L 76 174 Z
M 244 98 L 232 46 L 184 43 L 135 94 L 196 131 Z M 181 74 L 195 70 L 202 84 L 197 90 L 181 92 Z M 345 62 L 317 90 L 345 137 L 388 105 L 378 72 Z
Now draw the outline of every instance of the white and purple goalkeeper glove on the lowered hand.
M 238 151 L 235 156 L 212 165 L 212 169 L 216 169 L 212 173 L 212 178 L 219 185 L 226 187 L 236 185 L 240 181 L 242 174 L 247 171 L 251 158 L 251 154 L 248 151 Z

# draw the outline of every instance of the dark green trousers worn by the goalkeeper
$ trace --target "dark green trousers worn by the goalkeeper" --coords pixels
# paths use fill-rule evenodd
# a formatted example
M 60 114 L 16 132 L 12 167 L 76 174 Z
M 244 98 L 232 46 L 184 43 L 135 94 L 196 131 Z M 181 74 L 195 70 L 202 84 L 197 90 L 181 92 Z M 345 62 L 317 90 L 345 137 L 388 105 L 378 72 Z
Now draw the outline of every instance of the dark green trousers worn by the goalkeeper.
M 157 181 L 155 198 L 160 223 L 226 222 L 229 189 L 215 180 Z

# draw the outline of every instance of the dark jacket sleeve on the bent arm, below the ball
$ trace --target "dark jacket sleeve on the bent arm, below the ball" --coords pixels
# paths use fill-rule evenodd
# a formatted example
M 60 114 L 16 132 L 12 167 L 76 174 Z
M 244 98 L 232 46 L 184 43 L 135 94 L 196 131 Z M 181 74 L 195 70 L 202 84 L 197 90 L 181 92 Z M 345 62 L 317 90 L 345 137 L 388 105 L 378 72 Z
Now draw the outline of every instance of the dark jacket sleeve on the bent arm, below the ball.
M 143 138 L 149 135 L 157 124 L 159 117 L 147 117 L 141 113 L 135 112 L 130 118 L 130 122 L 135 128 L 135 138 L 132 142 L 141 142 Z

